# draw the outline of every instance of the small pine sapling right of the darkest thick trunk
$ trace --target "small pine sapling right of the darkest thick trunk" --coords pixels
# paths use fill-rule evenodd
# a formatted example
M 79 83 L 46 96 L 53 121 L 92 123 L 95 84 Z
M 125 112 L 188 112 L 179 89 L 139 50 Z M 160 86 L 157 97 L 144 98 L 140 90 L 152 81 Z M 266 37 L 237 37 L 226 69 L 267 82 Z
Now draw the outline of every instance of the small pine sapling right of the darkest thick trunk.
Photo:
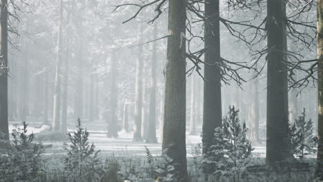
M 290 125 L 289 134 L 293 154 L 303 159 L 304 156 L 315 153 L 317 138 L 313 134 L 313 121 L 306 121 L 305 108 L 302 115 L 295 119 L 295 123 Z

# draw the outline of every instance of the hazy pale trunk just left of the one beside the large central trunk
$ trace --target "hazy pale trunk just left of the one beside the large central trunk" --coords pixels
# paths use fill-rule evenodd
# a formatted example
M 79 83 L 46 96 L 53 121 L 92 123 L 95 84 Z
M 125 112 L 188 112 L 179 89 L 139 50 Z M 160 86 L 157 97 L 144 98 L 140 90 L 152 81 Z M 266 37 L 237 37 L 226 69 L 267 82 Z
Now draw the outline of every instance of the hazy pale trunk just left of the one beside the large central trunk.
M 143 31 L 144 26 L 140 26 L 139 28 L 139 35 L 140 41 L 139 43 L 143 42 Z M 141 138 L 141 120 L 142 120 L 142 67 L 143 67 L 143 60 L 142 60 L 142 53 L 143 53 L 143 46 L 139 45 L 138 48 L 138 59 L 136 65 L 136 85 L 135 85 L 135 123 L 133 126 L 133 141 L 142 141 Z

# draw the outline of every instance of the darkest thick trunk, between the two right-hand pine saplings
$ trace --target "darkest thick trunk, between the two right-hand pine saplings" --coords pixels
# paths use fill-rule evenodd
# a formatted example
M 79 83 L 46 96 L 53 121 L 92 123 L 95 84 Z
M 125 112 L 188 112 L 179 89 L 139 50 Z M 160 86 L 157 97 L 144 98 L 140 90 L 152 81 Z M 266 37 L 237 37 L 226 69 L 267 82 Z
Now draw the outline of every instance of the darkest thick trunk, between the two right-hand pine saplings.
M 283 0 L 267 1 L 267 141 L 266 164 L 289 162 L 286 7 Z

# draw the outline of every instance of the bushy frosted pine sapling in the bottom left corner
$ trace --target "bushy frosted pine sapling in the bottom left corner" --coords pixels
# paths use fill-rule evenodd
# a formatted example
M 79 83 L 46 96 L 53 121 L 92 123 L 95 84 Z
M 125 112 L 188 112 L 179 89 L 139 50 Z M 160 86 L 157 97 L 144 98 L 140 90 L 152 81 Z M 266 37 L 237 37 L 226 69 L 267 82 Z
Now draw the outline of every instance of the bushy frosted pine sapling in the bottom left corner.
M 0 181 L 36 181 L 43 172 L 43 145 L 32 143 L 35 135 L 27 134 L 27 124 L 12 130 L 10 147 L 1 149 Z

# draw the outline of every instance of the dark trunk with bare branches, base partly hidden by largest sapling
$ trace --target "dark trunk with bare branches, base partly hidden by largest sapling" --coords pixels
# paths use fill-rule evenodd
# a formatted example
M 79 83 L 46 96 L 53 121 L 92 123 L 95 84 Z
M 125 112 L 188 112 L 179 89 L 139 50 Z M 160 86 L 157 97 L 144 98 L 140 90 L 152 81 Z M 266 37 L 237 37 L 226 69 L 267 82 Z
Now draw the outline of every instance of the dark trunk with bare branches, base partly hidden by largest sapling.
M 214 130 L 222 126 L 221 74 L 219 63 L 219 1 L 206 0 L 205 4 L 205 52 L 204 65 L 204 112 L 202 126 L 203 154 L 207 154 L 214 136 Z

